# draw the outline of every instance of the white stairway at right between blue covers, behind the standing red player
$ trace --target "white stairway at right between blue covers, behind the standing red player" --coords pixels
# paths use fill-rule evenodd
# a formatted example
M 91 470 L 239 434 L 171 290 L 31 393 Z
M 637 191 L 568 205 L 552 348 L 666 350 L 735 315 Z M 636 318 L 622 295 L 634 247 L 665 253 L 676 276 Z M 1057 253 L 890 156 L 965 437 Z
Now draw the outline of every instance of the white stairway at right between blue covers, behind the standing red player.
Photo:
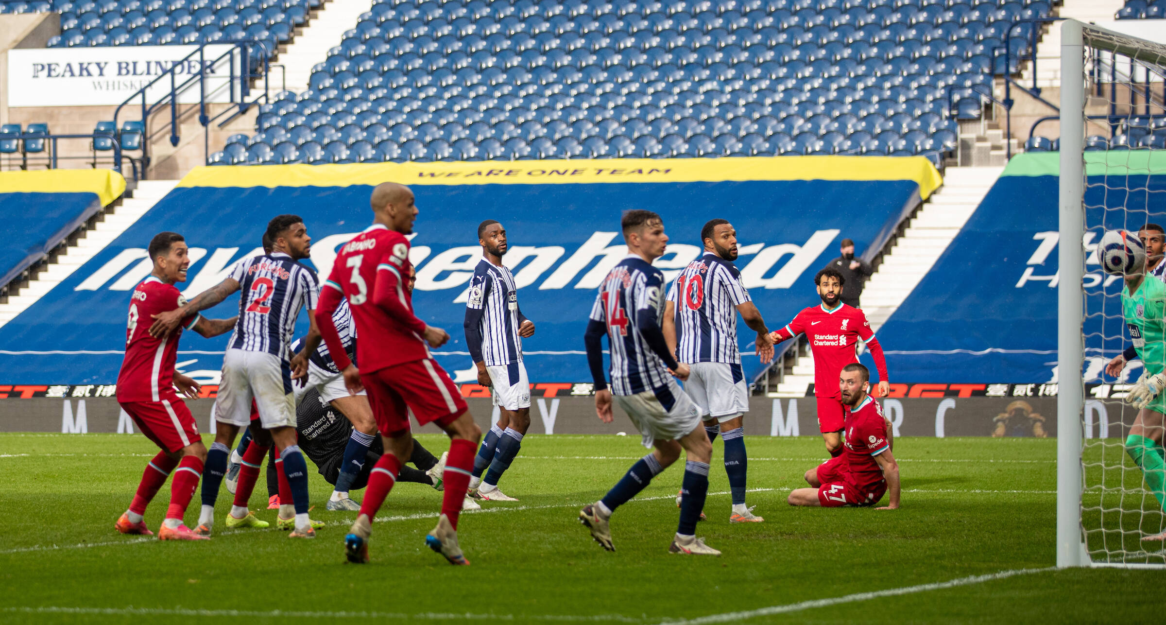
M 943 187 L 904 222 L 901 234 L 874 259 L 874 274 L 863 289 L 862 304 L 871 329 L 878 329 L 894 314 L 920 280 L 932 269 L 951 239 L 988 195 L 1003 167 L 949 167 Z M 777 329 L 784 319 L 770 319 Z M 893 350 L 893 345 L 884 345 Z M 782 363 L 785 374 L 774 396 L 801 398 L 814 382 L 814 357 L 802 340 Z M 894 380 L 893 367 L 890 371 Z

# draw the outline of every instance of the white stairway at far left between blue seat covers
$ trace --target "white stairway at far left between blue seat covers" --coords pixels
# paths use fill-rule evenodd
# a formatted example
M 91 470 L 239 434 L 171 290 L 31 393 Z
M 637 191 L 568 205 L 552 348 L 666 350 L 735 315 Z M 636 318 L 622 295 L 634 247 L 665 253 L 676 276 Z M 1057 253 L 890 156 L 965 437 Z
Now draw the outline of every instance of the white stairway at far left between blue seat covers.
M 82 265 L 89 262 L 177 184 L 176 180 L 140 181 L 132 192 L 127 191 L 122 196 L 120 204 L 114 203 L 107 206 L 104 212 L 98 215 L 96 224 L 86 230 L 83 237 L 72 240 L 69 247 L 55 260 L 45 264 L 27 286 L 14 288 L 8 295 L 7 302 L 0 303 L 0 326 L 15 318 L 16 315 L 52 290 L 61 281 L 72 275 Z

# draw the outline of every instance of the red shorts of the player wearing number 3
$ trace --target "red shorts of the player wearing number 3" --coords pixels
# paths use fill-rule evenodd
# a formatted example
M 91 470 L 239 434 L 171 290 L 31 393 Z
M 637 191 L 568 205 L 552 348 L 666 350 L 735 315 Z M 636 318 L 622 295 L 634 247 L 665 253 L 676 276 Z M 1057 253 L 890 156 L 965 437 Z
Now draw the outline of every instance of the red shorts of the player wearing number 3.
M 465 400 L 449 374 L 433 358 L 401 363 L 361 373 L 377 428 L 385 436 L 409 429 L 409 413 L 417 423 L 449 426 L 466 410 Z

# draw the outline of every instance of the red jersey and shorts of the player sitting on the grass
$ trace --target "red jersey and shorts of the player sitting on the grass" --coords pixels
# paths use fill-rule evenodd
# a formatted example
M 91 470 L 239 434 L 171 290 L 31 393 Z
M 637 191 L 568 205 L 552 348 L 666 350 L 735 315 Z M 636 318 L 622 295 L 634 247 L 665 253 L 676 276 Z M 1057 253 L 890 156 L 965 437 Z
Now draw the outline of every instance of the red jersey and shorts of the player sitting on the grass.
M 843 452 L 817 468 L 817 501 L 823 507 L 871 506 L 886 492 L 886 479 L 874 456 L 891 449 L 883 407 L 870 395 L 847 407 Z

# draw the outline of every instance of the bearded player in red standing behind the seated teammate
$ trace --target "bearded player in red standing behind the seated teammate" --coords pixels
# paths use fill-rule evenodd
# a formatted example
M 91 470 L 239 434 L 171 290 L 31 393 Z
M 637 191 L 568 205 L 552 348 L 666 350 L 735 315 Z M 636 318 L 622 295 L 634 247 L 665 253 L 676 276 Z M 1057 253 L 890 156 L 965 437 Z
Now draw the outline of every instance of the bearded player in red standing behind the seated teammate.
M 805 308 L 789 322 L 789 325 L 777 330 L 771 336 L 774 344 L 805 333 L 809 339 L 809 349 L 814 354 L 814 399 L 817 400 L 817 426 L 826 441 L 826 450 L 831 456 L 842 454 L 843 407 L 838 395 L 838 372 L 850 363 L 858 361 L 857 339 L 862 338 L 874 357 L 878 367 L 879 396 L 886 396 L 891 382 L 886 375 L 886 359 L 883 346 L 871 331 L 871 323 L 858 308 L 842 303 L 842 285 L 845 279 L 833 267 L 827 267 L 814 276 L 817 295 L 822 299 L 819 306 Z

